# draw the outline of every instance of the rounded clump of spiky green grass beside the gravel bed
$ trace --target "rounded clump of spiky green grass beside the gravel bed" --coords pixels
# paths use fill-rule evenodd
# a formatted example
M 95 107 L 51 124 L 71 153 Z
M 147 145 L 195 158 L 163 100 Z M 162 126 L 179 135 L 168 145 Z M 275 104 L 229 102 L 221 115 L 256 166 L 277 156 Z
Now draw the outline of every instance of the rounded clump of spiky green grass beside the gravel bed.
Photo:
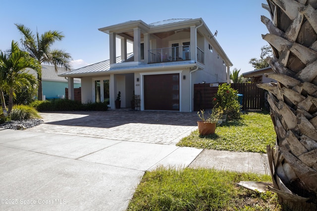
M 11 120 L 38 119 L 41 116 L 38 111 L 31 106 L 15 105 L 9 113 Z

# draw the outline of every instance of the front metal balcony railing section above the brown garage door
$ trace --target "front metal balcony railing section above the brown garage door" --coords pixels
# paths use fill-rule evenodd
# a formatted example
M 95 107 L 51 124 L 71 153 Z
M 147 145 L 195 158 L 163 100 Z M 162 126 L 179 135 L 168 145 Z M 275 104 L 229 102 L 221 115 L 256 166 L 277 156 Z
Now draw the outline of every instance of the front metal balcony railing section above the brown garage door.
M 149 51 L 149 63 L 190 60 L 190 46 L 153 49 Z

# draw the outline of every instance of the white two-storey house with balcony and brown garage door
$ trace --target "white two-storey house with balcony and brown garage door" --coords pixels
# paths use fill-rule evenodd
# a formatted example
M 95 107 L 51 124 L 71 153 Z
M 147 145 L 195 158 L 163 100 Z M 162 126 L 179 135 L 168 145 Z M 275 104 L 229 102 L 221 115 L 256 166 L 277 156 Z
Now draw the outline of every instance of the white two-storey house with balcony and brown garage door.
M 121 107 L 130 107 L 134 92 L 141 110 L 192 111 L 194 84 L 229 83 L 232 63 L 202 18 L 128 21 L 99 30 L 109 35 L 110 59 L 59 74 L 69 78 L 70 99 L 73 78 L 81 78 L 83 103 L 109 101 L 115 108 L 121 92 Z

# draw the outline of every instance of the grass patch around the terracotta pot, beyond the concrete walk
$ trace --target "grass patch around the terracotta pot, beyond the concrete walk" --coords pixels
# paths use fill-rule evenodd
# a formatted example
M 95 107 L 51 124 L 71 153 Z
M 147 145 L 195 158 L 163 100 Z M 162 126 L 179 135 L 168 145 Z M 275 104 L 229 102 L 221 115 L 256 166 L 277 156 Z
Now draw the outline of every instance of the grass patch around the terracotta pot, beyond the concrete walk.
M 217 125 L 215 134 L 200 136 L 198 130 L 177 146 L 236 152 L 266 153 L 266 145 L 275 144 L 275 131 L 269 113 L 248 112 L 239 122 Z

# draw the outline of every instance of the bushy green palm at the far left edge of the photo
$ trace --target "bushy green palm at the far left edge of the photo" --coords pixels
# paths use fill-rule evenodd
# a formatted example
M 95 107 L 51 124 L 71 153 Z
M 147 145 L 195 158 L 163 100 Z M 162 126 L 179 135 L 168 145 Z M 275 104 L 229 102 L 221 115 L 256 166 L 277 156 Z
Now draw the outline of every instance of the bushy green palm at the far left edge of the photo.
M 11 49 L 0 51 L 0 95 L 2 109 L 5 109 L 3 91 L 9 93 L 8 113 L 13 106 L 13 96 L 22 86 L 37 86 L 37 80 L 25 71 L 26 68 L 38 70 L 40 68 L 36 59 L 19 49 L 18 43 L 12 41 Z

